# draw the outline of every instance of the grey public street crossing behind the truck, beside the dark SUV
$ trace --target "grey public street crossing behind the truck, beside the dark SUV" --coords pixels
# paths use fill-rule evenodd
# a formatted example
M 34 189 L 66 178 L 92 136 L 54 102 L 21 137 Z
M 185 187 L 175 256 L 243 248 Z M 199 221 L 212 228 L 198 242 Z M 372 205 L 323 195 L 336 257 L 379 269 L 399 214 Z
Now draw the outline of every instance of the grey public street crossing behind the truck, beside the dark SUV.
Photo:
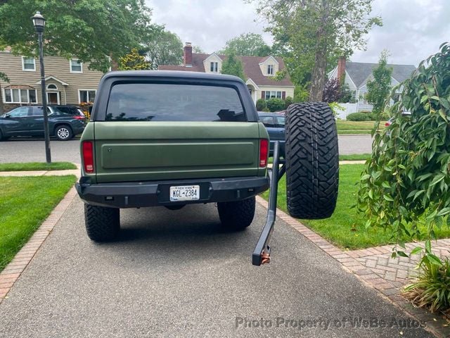
M 51 140 L 52 161 L 81 163 L 79 139 L 70 141 Z M 371 153 L 371 135 L 339 135 L 340 154 Z M 0 163 L 45 162 L 44 139 L 15 138 L 0 142 Z

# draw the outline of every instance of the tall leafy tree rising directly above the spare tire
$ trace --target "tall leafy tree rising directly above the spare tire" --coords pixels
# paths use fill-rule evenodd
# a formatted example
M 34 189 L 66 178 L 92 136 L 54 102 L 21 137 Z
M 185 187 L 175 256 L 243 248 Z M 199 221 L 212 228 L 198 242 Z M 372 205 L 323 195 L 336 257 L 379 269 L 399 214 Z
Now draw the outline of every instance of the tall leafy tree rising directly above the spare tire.
M 373 25 L 381 25 L 381 18 L 369 17 L 373 0 L 247 1 L 257 1 L 257 13 L 266 18 L 274 44 L 285 44 L 283 50 L 299 60 L 303 73 L 311 70 L 311 101 L 322 99 L 328 59 L 364 48 L 364 35 Z

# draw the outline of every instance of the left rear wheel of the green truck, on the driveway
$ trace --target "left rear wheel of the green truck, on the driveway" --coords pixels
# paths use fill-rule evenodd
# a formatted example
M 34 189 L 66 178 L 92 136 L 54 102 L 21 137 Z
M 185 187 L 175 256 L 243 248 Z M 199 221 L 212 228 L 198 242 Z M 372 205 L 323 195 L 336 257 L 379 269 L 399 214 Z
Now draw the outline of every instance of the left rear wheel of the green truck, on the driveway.
M 84 204 L 84 223 L 90 239 L 95 242 L 111 241 L 120 230 L 120 209 Z

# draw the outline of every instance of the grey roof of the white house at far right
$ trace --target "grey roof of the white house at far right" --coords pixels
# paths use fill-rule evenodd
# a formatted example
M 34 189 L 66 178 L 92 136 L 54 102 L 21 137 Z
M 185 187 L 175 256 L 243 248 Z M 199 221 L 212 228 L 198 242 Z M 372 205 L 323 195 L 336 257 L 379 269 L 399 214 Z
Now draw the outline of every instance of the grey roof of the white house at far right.
M 362 63 L 362 62 L 351 62 L 347 61 L 345 65 L 345 70 L 347 74 L 352 78 L 356 88 L 361 87 L 364 81 L 372 74 L 374 68 L 378 67 L 378 63 Z M 398 82 L 403 82 L 404 80 L 411 77 L 411 73 L 416 70 L 414 65 L 391 65 L 388 64 L 387 67 L 392 68 L 392 77 Z

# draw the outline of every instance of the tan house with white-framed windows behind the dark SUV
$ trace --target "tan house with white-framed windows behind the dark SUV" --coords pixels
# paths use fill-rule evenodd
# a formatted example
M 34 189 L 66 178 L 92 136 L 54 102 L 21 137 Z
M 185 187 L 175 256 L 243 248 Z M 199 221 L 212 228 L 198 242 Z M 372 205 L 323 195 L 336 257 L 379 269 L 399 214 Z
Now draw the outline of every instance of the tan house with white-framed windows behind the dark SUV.
M 102 72 L 89 70 L 89 64 L 76 58 L 60 56 L 46 56 L 44 66 L 49 104 L 94 101 Z M 42 103 L 39 60 L 0 51 L 0 72 L 9 78 L 9 83 L 0 80 L 5 111 L 16 106 Z

